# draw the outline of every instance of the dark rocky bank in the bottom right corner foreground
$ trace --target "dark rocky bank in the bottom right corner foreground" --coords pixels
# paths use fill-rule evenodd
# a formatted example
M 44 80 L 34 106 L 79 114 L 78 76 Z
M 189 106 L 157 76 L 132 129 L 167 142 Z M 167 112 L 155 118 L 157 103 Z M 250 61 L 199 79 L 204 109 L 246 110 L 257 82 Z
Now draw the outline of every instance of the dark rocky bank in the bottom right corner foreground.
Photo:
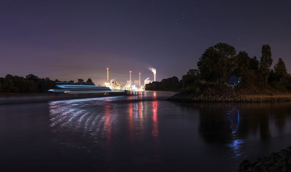
M 239 165 L 239 172 L 288 172 L 291 171 L 291 146 L 269 157 L 259 158 L 258 162 L 251 163 L 244 160 Z

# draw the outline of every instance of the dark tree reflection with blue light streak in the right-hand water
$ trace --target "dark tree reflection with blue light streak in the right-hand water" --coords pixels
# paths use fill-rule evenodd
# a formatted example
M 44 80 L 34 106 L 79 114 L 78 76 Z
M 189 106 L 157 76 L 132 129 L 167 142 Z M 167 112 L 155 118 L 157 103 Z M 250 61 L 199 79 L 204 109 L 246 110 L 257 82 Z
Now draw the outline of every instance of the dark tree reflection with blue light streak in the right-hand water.
M 290 105 L 290 102 L 179 104 L 188 107 L 187 110 L 189 107 L 197 110 L 199 134 L 205 143 L 220 148 L 219 145 L 225 145 L 230 157 L 236 160 L 250 154 L 243 145 L 257 138 L 262 149 L 276 148 L 272 138 L 286 133 L 287 122 L 290 126 Z

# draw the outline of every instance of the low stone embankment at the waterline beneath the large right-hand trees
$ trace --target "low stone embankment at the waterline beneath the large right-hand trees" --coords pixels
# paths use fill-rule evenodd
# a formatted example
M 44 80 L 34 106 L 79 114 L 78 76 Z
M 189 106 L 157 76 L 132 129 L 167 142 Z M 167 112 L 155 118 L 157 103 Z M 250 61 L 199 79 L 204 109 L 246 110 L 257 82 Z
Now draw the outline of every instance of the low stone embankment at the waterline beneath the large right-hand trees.
M 289 102 L 289 95 L 221 95 L 221 94 L 195 94 L 195 93 L 177 93 L 166 99 L 171 102 Z

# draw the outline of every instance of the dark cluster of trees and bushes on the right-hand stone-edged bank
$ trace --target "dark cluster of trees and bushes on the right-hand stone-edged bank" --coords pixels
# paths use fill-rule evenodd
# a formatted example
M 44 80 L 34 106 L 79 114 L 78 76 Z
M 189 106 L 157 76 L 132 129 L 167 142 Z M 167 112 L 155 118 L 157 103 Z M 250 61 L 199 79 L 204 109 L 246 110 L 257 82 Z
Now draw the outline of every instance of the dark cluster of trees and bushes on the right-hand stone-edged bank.
M 271 47 L 263 45 L 260 61 L 256 56 L 249 57 L 245 51 L 236 52 L 226 43 L 218 43 L 207 48 L 197 62 L 198 69 L 190 69 L 179 81 L 177 77 L 162 79 L 161 82 L 146 84 L 146 90 L 181 90 L 200 93 L 228 89 L 274 88 L 278 91 L 291 90 L 291 75 L 287 73 L 282 58 L 272 69 Z

